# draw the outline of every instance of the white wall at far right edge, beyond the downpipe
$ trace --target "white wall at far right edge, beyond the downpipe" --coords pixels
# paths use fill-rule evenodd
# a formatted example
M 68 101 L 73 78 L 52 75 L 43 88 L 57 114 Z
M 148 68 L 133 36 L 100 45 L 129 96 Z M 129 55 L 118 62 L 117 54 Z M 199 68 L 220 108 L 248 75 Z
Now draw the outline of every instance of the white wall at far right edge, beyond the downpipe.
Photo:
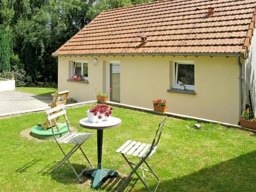
M 249 90 L 254 116 L 256 116 L 256 30 L 254 30 L 249 54 L 245 60 L 245 102 L 248 104 Z

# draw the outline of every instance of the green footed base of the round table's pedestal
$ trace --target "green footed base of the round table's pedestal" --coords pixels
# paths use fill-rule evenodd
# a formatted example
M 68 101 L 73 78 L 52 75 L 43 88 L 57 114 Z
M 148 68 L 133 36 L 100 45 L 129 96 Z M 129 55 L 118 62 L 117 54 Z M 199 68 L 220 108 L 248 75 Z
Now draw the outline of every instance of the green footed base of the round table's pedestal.
M 117 173 L 116 170 L 111 170 L 108 168 L 102 168 L 102 169 L 98 169 L 98 168 L 90 168 L 87 169 L 85 172 L 83 172 L 84 175 L 91 175 L 94 179 L 93 179 L 93 184 L 92 184 L 92 188 L 99 188 L 102 179 L 106 178 L 106 177 L 118 177 L 119 174 Z

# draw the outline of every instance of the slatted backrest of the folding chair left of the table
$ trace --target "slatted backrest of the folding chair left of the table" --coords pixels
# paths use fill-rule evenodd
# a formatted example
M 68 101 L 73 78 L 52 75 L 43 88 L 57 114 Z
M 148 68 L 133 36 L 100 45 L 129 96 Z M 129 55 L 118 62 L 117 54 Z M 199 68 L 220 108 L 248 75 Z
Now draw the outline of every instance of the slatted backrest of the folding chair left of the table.
M 56 138 L 55 138 L 55 134 L 54 134 L 54 130 L 53 130 L 53 124 L 55 125 L 57 131 L 59 132 L 59 126 L 57 124 L 56 119 L 59 118 L 60 116 L 64 116 L 65 117 L 66 123 L 64 123 L 63 125 L 65 125 L 65 126 L 67 125 L 68 126 L 68 130 L 70 132 L 69 120 L 68 120 L 68 117 L 66 115 L 67 111 L 65 110 L 65 105 L 59 105 L 59 106 L 56 106 L 55 108 L 46 110 L 46 114 L 47 114 L 47 119 L 50 122 L 52 133 L 53 133 L 53 137 L 54 137 L 55 140 L 56 140 Z M 61 126 L 63 126 L 63 125 L 61 125 Z

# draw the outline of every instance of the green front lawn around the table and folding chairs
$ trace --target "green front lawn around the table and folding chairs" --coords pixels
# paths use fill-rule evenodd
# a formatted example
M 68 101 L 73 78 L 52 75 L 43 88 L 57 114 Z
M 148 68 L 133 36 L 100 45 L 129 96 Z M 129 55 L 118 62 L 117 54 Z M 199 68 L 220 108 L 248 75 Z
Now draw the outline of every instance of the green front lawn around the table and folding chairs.
M 86 117 L 89 107 L 91 105 L 67 110 L 71 125 L 79 132 L 96 133 L 81 128 L 78 123 Z M 102 163 L 105 168 L 117 169 L 120 177 L 106 180 L 102 191 L 116 189 L 131 171 L 115 150 L 128 139 L 152 142 L 163 118 L 121 108 L 115 108 L 113 116 L 121 118 L 122 124 L 104 131 Z M 0 119 L 0 191 L 91 191 L 91 179 L 83 177 L 83 183 L 79 184 L 67 164 L 48 174 L 48 170 L 62 158 L 55 142 L 36 142 L 20 136 L 20 132 L 44 120 L 45 113 Z M 157 153 L 148 160 L 162 181 L 158 191 L 255 191 L 255 135 L 203 123 L 201 130 L 195 130 L 192 128 L 195 123 L 166 119 Z M 71 146 L 64 148 L 68 151 Z M 83 148 L 96 165 L 96 134 L 84 143 Z M 87 165 L 80 152 L 71 158 L 71 162 L 78 170 Z M 155 187 L 157 181 L 149 176 L 148 184 Z M 134 175 L 126 191 L 146 190 Z

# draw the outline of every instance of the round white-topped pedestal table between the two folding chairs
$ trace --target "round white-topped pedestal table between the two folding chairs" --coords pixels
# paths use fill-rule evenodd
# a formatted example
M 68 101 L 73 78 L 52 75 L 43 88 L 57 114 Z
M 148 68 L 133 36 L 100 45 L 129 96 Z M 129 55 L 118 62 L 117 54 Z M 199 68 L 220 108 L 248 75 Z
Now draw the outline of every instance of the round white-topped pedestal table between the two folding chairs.
M 97 168 L 90 168 L 83 172 L 84 175 L 91 175 L 93 179 L 92 188 L 99 188 L 102 179 L 105 177 L 118 177 L 116 170 L 111 170 L 108 168 L 102 168 L 101 158 L 102 158 L 102 140 L 103 140 L 103 130 L 112 129 L 113 127 L 120 126 L 121 119 L 116 117 L 109 117 L 107 121 L 92 123 L 88 118 L 81 119 L 79 124 L 81 127 L 97 130 L 97 151 L 98 151 L 98 166 Z

